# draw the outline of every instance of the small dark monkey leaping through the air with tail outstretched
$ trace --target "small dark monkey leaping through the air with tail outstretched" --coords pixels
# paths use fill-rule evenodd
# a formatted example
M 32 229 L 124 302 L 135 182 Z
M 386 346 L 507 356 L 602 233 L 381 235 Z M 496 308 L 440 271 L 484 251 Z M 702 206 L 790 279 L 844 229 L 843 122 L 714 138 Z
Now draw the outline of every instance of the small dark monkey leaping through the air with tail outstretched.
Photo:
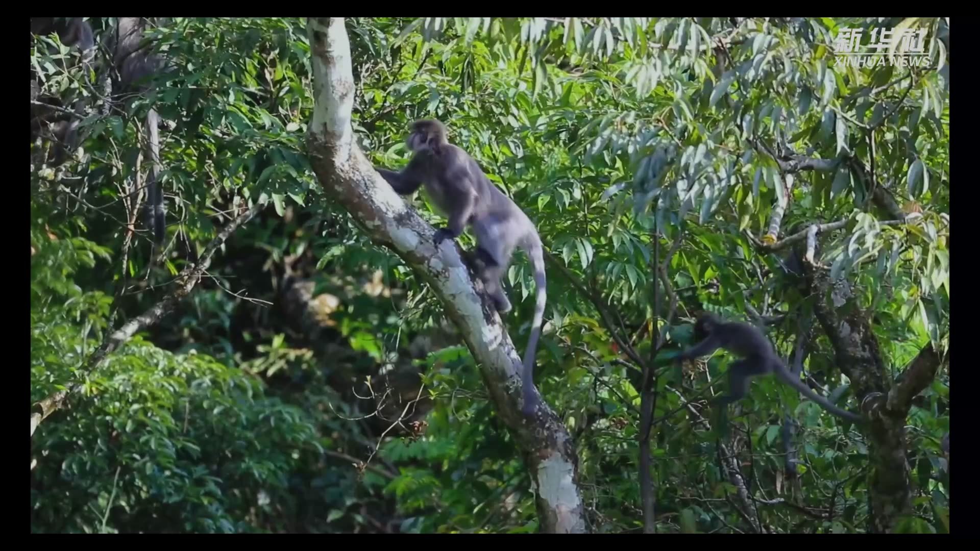
M 749 384 L 753 376 L 774 374 L 828 412 L 854 423 L 862 421 L 860 416 L 834 406 L 823 396 L 810 390 L 809 386 L 798 377 L 793 376 L 776 355 L 772 344 L 757 327 L 737 322 L 723 322 L 716 316 L 706 313 L 698 318 L 694 332 L 696 336 L 703 336 L 704 340 L 678 355 L 678 362 L 707 356 L 718 348 L 724 348 L 742 358 L 728 368 L 728 394 L 715 398 L 714 402 L 728 405 L 740 400 L 749 392 Z

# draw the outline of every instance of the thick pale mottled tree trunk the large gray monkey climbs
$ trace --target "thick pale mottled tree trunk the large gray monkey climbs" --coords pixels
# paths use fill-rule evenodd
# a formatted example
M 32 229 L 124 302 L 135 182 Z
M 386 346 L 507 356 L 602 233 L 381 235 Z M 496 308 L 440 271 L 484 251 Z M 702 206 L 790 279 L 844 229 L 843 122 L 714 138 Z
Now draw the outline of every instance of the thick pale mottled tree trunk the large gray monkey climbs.
M 354 143 L 350 118 L 356 86 L 343 18 L 309 18 L 307 31 L 315 98 L 307 145 L 320 185 L 373 241 L 395 252 L 429 284 L 447 318 L 459 327 L 531 474 L 541 529 L 586 531 L 571 436 L 544 403 L 533 418 L 521 415 L 520 357 L 490 300 L 477 294 L 482 284 L 476 282 L 474 289 L 453 241 L 433 244 L 432 226 L 374 171 Z

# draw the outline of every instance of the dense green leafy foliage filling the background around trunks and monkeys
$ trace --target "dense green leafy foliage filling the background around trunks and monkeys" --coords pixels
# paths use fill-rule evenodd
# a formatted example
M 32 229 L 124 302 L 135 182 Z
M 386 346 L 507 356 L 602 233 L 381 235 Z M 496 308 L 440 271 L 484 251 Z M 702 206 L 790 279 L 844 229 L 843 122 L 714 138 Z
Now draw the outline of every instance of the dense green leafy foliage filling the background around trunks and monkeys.
M 91 23 L 104 36 L 113 20 Z M 929 69 L 835 64 L 841 27 L 896 25 L 927 29 Z M 401 167 L 407 126 L 438 118 L 539 226 L 557 264 L 537 385 L 576 439 L 592 530 L 642 526 L 638 365 L 625 344 L 658 374 L 660 530 L 865 531 L 865 434 L 775 379 L 756 382 L 720 430 L 710 409 L 683 406 L 723 376 L 727 356 L 685 370 L 670 359 L 701 310 L 771 320 L 783 357 L 800 324 L 814 326 L 808 375 L 857 408 L 836 343 L 812 321 L 814 303 L 832 299 L 786 269 L 799 247 L 756 243 L 781 202 L 777 239 L 846 221 L 820 234 L 818 258 L 873 320 L 888 380 L 930 343 L 945 353 L 946 20 L 377 18 L 347 29 L 354 128 L 372 161 Z M 31 529 L 534 530 L 527 473 L 466 347 L 450 339 L 412 361 L 440 304 L 310 170 L 305 21 L 174 19 L 149 35 L 170 63 L 152 90 L 108 116 L 92 108 L 65 165 L 32 161 L 31 403 L 78 377 L 84 386 L 32 437 Z M 35 44 L 46 91 L 91 88 L 72 54 Z M 162 262 L 124 223 L 150 104 L 168 122 Z M 835 163 L 787 170 L 803 157 Z M 879 186 L 921 216 L 879 225 L 896 214 L 873 200 Z M 270 208 L 228 239 L 175 312 L 84 372 L 113 327 L 158 302 L 217 227 L 264 197 Z M 654 285 L 664 260 L 667 284 Z M 534 291 L 522 258 L 510 279 L 505 321 L 522 349 Z M 297 281 L 317 300 L 291 294 Z M 665 336 L 652 354 L 655 310 Z M 784 469 L 783 414 L 800 426 L 802 492 Z M 895 529 L 948 531 L 947 369 L 907 426 L 912 510 Z M 719 441 L 737 455 L 751 519 Z

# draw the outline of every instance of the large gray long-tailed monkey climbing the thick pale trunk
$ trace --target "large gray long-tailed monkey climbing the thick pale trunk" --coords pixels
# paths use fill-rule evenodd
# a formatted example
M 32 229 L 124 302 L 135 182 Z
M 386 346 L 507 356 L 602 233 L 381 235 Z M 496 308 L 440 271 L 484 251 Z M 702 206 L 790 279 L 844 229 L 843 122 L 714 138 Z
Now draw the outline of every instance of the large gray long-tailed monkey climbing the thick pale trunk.
M 405 169 L 397 173 L 375 170 L 401 195 L 410 195 L 424 184 L 432 202 L 449 219 L 449 224 L 437 229 L 433 236 L 436 246 L 444 239 L 459 237 L 466 225 L 472 228 L 477 244 L 477 272 L 498 312 L 506 314 L 511 310 L 501 277 L 507 272 L 515 247 L 527 253 L 534 267 L 537 302 L 521 374 L 521 411 L 530 416 L 539 403 L 533 370 L 546 301 L 544 251 L 538 231 L 466 151 L 449 143 L 445 125 L 436 120 L 417 121 L 407 143 L 414 156 Z

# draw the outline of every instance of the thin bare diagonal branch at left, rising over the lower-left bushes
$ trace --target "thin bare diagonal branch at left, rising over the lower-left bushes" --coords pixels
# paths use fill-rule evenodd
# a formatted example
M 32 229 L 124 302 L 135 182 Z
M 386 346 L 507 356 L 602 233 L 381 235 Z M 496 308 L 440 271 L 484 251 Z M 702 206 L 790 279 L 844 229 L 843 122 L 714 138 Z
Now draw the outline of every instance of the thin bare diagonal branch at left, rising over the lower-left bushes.
M 112 354 L 116 349 L 123 345 L 123 343 L 132 335 L 136 334 L 137 331 L 145 329 L 148 326 L 152 326 L 159 322 L 164 316 L 169 314 L 173 307 L 176 306 L 181 299 L 190 294 L 190 291 L 197 285 L 200 281 L 201 275 L 207 272 L 208 268 L 211 266 L 211 259 L 215 256 L 215 252 L 218 248 L 224 244 L 224 241 L 238 229 L 241 225 L 245 224 L 252 219 L 260 210 L 262 210 L 264 205 L 256 204 L 253 205 L 251 209 L 237 218 L 232 220 L 228 225 L 221 228 L 218 235 L 208 243 L 205 247 L 204 252 L 201 253 L 201 259 L 197 264 L 188 266 L 183 271 L 177 275 L 176 279 L 180 281 L 179 286 L 172 290 L 167 296 L 163 298 L 160 302 L 150 307 L 148 310 L 136 316 L 132 320 L 129 320 L 123 326 L 113 331 L 102 345 L 88 357 L 85 362 L 84 368 L 80 370 L 81 374 L 91 373 L 92 370 L 99 367 L 106 357 Z M 40 407 L 40 412 L 31 412 L 30 414 L 30 435 L 34 435 L 34 429 L 42 421 L 44 421 L 49 415 L 63 409 L 66 407 L 66 400 L 71 397 L 74 393 L 78 392 L 84 382 L 82 380 L 75 380 L 69 383 L 63 390 L 59 390 L 54 394 L 51 394 L 47 398 L 44 398 L 36 405 Z

